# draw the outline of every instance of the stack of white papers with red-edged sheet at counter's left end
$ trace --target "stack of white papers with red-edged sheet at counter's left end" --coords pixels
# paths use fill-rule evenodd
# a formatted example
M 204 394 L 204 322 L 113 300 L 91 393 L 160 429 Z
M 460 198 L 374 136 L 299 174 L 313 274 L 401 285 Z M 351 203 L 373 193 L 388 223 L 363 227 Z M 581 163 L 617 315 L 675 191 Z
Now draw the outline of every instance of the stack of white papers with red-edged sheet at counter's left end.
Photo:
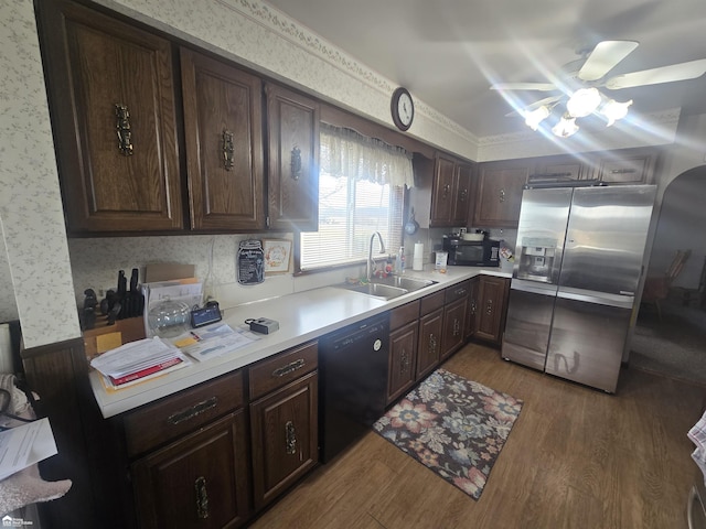
M 130 342 L 90 360 L 108 389 L 121 389 L 188 365 L 189 358 L 159 337 Z

